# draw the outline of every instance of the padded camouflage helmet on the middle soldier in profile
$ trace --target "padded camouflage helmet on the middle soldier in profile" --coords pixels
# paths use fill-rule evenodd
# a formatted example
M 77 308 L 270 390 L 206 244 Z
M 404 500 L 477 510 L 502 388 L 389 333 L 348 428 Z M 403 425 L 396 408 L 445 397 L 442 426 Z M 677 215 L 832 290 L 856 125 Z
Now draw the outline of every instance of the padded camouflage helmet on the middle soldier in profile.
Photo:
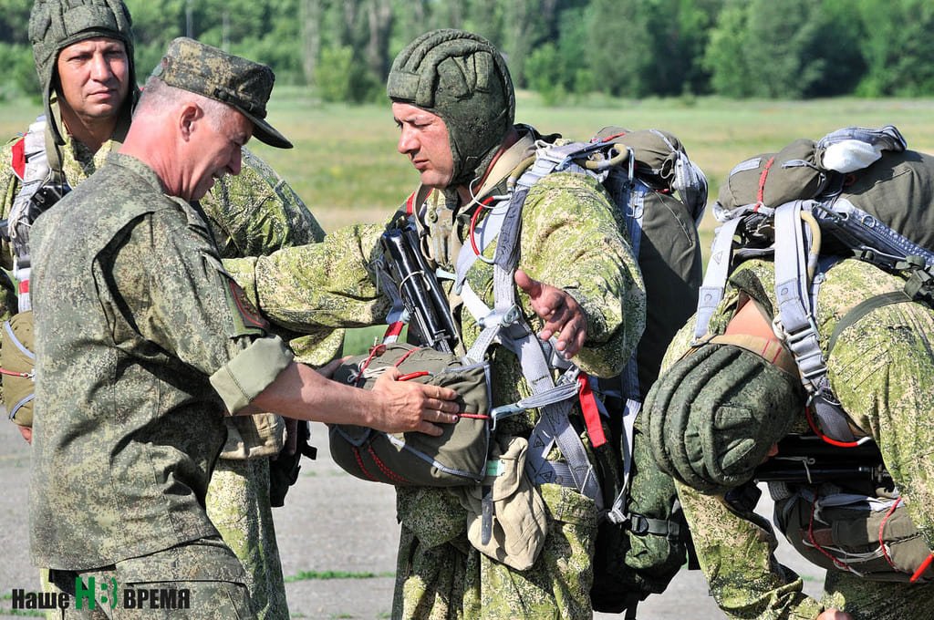
M 435 30 L 399 52 L 386 84 L 389 99 L 441 117 L 454 158 L 451 187 L 482 174 L 516 115 L 516 93 L 500 52 L 485 38 Z

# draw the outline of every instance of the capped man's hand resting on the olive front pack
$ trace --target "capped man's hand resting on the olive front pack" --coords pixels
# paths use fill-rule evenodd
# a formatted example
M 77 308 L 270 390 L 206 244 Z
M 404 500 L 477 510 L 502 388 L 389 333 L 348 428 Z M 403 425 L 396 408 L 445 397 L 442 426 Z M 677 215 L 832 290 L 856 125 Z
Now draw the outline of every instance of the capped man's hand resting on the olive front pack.
M 460 405 L 458 393 L 451 388 L 397 381 L 398 368 L 386 369 L 373 386 L 381 406 L 368 426 L 386 432 L 417 430 L 437 437 L 443 430 L 438 424 L 453 424 Z

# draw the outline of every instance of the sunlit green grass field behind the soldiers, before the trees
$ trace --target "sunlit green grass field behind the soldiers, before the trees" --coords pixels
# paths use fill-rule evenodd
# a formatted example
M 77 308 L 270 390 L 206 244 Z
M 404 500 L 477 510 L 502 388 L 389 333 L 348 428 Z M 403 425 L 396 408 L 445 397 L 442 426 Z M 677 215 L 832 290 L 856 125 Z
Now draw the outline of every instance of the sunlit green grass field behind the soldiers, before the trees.
M 382 220 L 414 189 L 417 176 L 396 152 L 398 130 L 388 104 L 324 105 L 304 90 L 283 88 L 273 93 L 269 107 L 268 119 L 295 148 L 268 148 L 257 141 L 249 146 L 290 182 L 325 230 Z M 40 111 L 37 102 L 0 104 L 0 134 L 23 131 Z M 932 119 L 934 99 L 782 102 L 595 97 L 573 106 L 545 107 L 534 94 L 517 94 L 517 120 L 545 133 L 586 139 L 606 125 L 672 132 L 707 175 L 711 202 L 736 163 L 782 148 L 795 138 L 817 139 L 841 127 L 893 124 L 909 148 L 934 152 Z M 705 240 L 714 227 L 708 214 L 701 227 Z M 351 334 L 347 350 L 359 350 L 361 343 L 372 340 L 372 331 Z

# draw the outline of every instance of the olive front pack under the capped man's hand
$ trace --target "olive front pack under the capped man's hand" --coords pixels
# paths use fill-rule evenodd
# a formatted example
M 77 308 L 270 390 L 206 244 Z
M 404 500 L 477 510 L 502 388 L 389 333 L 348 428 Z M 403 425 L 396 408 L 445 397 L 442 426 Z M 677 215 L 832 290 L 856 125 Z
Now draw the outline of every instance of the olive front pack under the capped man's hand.
M 444 432 L 437 437 L 333 425 L 329 437 L 334 462 L 363 480 L 396 486 L 481 482 L 487 474 L 490 434 L 488 364 L 464 365 L 450 353 L 396 343 L 377 345 L 369 354 L 347 359 L 333 379 L 370 389 L 390 366 L 403 373 L 401 381 L 456 390 L 460 419 L 441 425 Z

